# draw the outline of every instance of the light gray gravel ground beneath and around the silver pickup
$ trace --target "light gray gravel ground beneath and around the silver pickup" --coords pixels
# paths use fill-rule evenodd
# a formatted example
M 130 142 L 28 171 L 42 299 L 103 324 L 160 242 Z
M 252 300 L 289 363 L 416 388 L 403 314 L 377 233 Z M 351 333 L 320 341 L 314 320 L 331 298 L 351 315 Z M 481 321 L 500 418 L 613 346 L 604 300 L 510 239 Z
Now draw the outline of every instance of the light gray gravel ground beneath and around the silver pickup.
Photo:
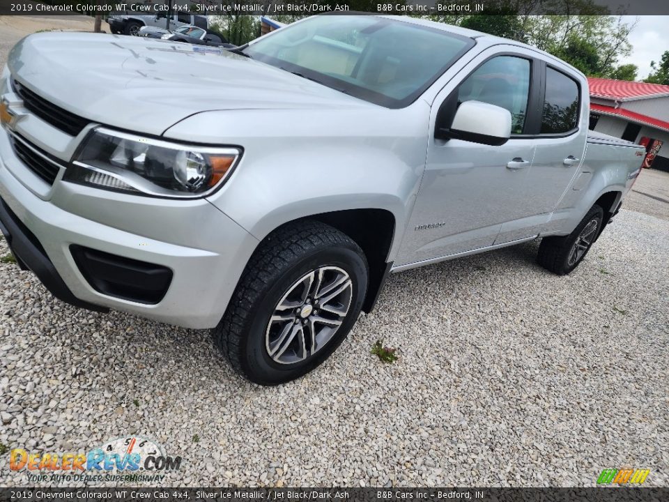
M 206 331 L 76 310 L 0 264 L 0 442 L 151 436 L 185 459 L 172 486 L 588 486 L 620 466 L 668 485 L 669 222 L 622 211 L 569 277 L 536 250 L 392 276 L 328 362 L 277 388 L 236 377 Z M 25 485 L 7 464 L 0 485 Z

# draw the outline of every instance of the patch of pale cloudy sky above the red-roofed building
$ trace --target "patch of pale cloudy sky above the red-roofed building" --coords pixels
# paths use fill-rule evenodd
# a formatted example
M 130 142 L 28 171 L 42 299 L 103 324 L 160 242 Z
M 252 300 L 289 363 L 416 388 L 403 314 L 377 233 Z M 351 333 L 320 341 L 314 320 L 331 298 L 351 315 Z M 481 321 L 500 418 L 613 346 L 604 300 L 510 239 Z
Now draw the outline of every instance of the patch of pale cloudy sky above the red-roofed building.
M 620 59 L 620 63 L 633 63 L 639 67 L 637 79 L 643 79 L 651 71 L 650 61 L 659 62 L 662 53 L 669 50 L 669 16 L 644 15 L 623 16 L 631 24 L 638 20 L 629 36 L 632 54 Z

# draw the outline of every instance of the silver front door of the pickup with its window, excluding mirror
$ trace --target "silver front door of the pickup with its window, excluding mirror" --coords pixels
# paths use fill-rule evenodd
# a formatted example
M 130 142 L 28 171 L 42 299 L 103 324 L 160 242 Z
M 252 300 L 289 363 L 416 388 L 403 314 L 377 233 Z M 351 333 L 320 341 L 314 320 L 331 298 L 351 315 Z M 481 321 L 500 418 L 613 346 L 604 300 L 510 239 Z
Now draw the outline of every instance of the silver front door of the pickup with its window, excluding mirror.
M 525 215 L 523 195 L 535 144 L 523 131 L 536 87 L 530 85 L 534 64 L 522 52 L 494 56 L 490 50 L 472 61 L 475 70 L 459 86 L 438 96 L 432 114 L 454 93 L 458 104 L 479 100 L 508 109 L 512 137 L 502 146 L 487 146 L 436 139 L 431 131 L 424 176 L 396 264 L 485 248 L 505 222 Z

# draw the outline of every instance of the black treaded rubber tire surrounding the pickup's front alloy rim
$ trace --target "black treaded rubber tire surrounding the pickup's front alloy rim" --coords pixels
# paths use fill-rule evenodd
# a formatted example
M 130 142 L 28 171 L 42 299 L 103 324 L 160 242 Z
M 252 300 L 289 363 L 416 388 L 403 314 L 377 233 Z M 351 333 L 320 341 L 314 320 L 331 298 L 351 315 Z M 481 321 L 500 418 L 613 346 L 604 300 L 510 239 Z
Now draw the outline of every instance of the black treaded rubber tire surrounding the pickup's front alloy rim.
M 295 363 L 277 363 L 270 354 L 270 319 L 295 281 L 321 268 L 343 271 L 350 278 L 346 317 L 332 338 L 311 356 Z M 360 246 L 341 231 L 314 220 L 279 227 L 249 259 L 223 318 L 212 330 L 213 339 L 233 369 L 250 381 L 271 386 L 301 377 L 323 363 L 355 324 L 368 275 Z M 295 311 L 295 322 L 306 322 L 299 308 Z

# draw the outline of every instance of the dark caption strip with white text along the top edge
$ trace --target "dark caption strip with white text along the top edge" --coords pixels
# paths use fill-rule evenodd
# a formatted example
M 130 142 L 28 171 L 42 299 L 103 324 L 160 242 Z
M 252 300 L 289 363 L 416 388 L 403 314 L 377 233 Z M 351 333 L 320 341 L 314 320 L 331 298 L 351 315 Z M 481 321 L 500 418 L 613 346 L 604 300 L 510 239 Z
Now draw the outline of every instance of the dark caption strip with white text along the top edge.
M 659 0 L 0 0 L 0 15 L 669 15 Z

